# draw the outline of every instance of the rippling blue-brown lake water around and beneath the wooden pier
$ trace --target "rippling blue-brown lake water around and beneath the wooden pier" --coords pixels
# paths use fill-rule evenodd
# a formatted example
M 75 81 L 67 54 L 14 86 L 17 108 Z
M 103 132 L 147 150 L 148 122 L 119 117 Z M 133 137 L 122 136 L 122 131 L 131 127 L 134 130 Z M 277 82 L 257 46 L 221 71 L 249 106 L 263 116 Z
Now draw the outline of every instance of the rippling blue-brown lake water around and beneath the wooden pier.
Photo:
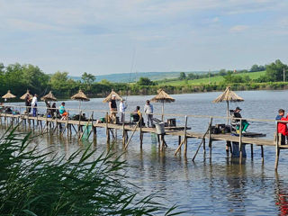
M 241 107 L 242 116 L 258 119 L 275 119 L 277 110 L 288 108 L 288 91 L 246 91 L 236 92 L 245 99 L 242 103 L 231 103 L 231 108 Z M 166 113 L 226 115 L 226 103 L 211 103 L 220 93 L 177 94 L 172 95 L 175 103 L 166 103 Z M 136 105 L 143 107 L 152 96 L 129 96 L 129 111 Z M 95 98 L 82 103 L 83 109 L 108 110 L 103 99 Z M 19 103 L 15 103 L 19 104 Z M 22 103 L 23 104 L 23 103 Z M 153 103 L 155 112 L 161 111 L 160 103 Z M 78 102 L 67 101 L 67 108 L 77 108 Z M 90 112 L 86 113 L 87 115 Z M 95 113 L 97 118 L 104 112 Z M 172 116 L 171 116 L 172 117 Z M 128 118 L 127 118 L 128 119 Z M 176 117 L 177 124 L 184 124 L 184 117 Z M 193 131 L 207 129 L 209 118 L 188 118 L 188 126 Z M 225 122 L 216 120 L 214 122 Z M 250 122 L 248 131 L 257 131 L 273 138 L 275 122 Z M 4 129 L 0 130 L 0 133 Z M 118 132 L 121 139 L 121 131 Z M 94 148 L 101 153 L 107 149 L 104 129 L 98 130 Z M 78 148 L 85 148 L 86 141 L 76 138 L 67 139 L 54 136 L 40 136 L 34 140 L 40 148 L 49 147 L 59 154 L 69 156 Z M 261 160 L 260 147 L 254 148 L 251 160 L 250 148 L 247 159 L 239 165 L 237 159 L 227 157 L 224 142 L 213 142 L 212 157 L 203 157 L 200 150 L 195 161 L 192 157 L 200 139 L 188 139 L 187 158 L 174 156 L 178 145 L 177 137 L 166 137 L 166 148 L 160 153 L 157 139 L 150 134 L 144 135 L 142 150 L 139 148 L 139 133 L 133 137 L 128 151 L 124 152 L 121 140 L 112 146 L 112 150 L 122 154 L 131 165 L 127 174 L 133 184 L 139 186 L 141 195 L 158 192 L 165 197 L 168 205 L 177 204 L 179 209 L 187 211 L 185 215 L 286 215 L 288 214 L 288 151 L 282 151 L 278 173 L 275 173 L 275 148 L 265 147 L 264 163 Z M 183 152 L 182 152 L 183 153 Z

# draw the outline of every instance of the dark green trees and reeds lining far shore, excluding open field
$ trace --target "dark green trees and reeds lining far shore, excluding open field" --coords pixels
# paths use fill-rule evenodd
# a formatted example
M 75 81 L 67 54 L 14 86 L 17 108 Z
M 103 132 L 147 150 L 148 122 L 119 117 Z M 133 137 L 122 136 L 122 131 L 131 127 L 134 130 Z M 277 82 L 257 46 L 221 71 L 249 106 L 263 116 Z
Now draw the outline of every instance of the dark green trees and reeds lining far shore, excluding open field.
M 265 75 L 257 79 L 251 80 L 249 76 L 239 76 L 240 73 L 249 73 L 255 71 L 266 70 Z M 288 67 L 279 59 L 266 66 L 252 66 L 248 70 L 231 71 L 221 69 L 217 73 L 209 74 L 185 74 L 180 73 L 178 80 L 198 79 L 208 76 L 223 76 L 224 81 L 216 86 L 213 84 L 212 89 L 208 85 L 203 85 L 207 90 L 218 90 L 223 85 L 228 84 L 256 84 L 267 82 L 283 82 L 284 76 L 288 79 Z M 215 86 L 214 86 L 215 85 Z M 250 86 L 250 85 L 249 85 Z M 251 85 L 252 86 L 252 85 Z M 253 85 L 257 86 L 257 85 Z M 260 85 L 259 85 L 260 86 Z M 263 86 L 263 85 L 261 85 Z M 72 94 L 76 94 L 82 89 L 88 96 L 104 96 L 112 89 L 120 92 L 120 94 L 156 94 L 158 88 L 165 88 L 170 93 L 184 93 L 185 91 L 193 92 L 202 89 L 202 86 L 169 86 L 165 81 L 152 81 L 148 77 L 140 77 L 136 83 L 112 83 L 105 79 L 96 82 L 96 77 L 89 73 L 83 73 L 80 80 L 74 80 L 68 76 L 67 72 L 58 71 L 48 75 L 44 73 L 40 67 L 31 64 L 10 64 L 4 66 L 0 63 L 0 95 L 4 95 L 8 90 L 18 97 L 23 95 L 27 89 L 31 94 L 39 94 L 40 96 L 48 94 L 52 90 L 53 94 L 58 97 L 65 98 Z M 196 90 L 195 90 L 196 89 Z

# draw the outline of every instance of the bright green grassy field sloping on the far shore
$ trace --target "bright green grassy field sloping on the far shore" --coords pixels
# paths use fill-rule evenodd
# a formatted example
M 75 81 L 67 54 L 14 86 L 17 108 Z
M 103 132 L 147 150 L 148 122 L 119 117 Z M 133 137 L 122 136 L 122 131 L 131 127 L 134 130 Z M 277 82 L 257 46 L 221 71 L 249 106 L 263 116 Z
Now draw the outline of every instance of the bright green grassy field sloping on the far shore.
M 250 73 L 243 73 L 243 74 L 235 74 L 233 76 L 249 76 L 250 79 L 257 79 L 258 77 L 265 75 L 266 71 L 259 71 L 259 72 L 250 72 Z M 210 83 L 219 84 L 221 81 L 224 80 L 223 76 L 212 76 L 210 78 Z M 201 78 L 201 79 L 193 79 L 193 80 L 177 80 L 177 81 L 166 81 L 166 82 L 159 82 L 159 85 L 204 85 L 209 84 L 209 78 Z

